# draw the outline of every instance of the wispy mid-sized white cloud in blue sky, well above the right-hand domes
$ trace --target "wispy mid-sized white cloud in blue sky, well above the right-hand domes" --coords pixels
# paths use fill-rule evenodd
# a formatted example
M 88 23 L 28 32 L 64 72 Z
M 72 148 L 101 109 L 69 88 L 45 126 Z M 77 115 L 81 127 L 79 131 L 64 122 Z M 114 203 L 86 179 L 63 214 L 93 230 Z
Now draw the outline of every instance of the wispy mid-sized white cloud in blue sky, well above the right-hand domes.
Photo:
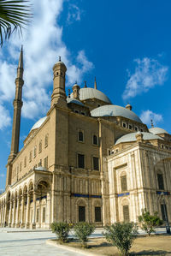
M 167 79 L 168 67 L 163 66 L 156 59 L 144 57 L 142 60 L 134 60 L 136 68 L 133 74 L 128 70 L 129 80 L 122 98 L 133 98 L 142 92 L 148 92 L 150 88 L 162 86 Z

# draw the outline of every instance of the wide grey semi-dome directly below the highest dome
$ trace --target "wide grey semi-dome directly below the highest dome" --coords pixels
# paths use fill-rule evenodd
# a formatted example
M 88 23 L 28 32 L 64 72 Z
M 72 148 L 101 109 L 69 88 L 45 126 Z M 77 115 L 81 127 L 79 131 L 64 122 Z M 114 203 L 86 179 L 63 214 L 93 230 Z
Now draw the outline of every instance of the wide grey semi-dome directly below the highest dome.
M 91 110 L 91 116 L 122 116 L 131 119 L 135 122 L 142 122 L 132 110 L 127 110 L 121 106 L 109 104 L 101 106 L 95 110 Z

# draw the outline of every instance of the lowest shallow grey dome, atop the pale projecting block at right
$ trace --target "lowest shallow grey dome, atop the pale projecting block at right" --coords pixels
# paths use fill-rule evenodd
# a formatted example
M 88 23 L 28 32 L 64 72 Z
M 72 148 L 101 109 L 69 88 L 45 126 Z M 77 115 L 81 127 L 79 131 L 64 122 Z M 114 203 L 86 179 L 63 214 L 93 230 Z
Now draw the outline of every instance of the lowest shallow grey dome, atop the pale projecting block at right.
M 119 144 L 119 143 L 124 143 L 124 142 L 133 142 L 133 141 L 137 141 L 136 139 L 136 135 L 139 134 L 138 133 L 132 133 L 132 134 L 126 134 L 121 136 L 120 139 L 116 140 L 115 145 Z M 157 136 L 156 134 L 150 134 L 150 133 L 141 133 L 143 134 L 143 140 L 163 140 L 161 137 Z

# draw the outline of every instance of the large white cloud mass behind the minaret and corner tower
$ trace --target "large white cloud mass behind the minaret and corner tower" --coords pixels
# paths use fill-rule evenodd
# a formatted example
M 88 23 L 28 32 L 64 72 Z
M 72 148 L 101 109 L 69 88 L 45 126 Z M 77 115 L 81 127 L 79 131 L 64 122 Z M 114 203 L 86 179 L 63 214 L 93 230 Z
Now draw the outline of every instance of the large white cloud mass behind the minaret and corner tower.
M 62 12 L 63 2 L 64 0 L 32 0 L 32 24 L 23 31 L 22 38 L 13 35 L 9 39 L 8 60 L 0 62 L 0 106 L 3 107 L 4 113 L 8 114 L 5 102 L 12 102 L 15 96 L 16 63 L 21 45 L 24 45 L 25 69 L 22 116 L 26 118 L 44 116 L 50 107 L 50 94 L 53 89 L 52 68 L 59 56 L 68 68 L 68 86 L 72 86 L 75 80 L 80 81 L 83 75 L 93 68 L 93 64 L 85 56 L 85 51 L 78 51 L 74 59 L 72 52 L 68 51 L 67 45 L 62 41 L 62 27 L 58 24 L 58 17 Z M 79 15 L 75 20 L 79 20 Z M 2 59 L 5 59 L 5 51 Z M 6 126 L 9 124 L 9 119 L 7 120 Z M 1 128 L 3 127 L 2 122 Z

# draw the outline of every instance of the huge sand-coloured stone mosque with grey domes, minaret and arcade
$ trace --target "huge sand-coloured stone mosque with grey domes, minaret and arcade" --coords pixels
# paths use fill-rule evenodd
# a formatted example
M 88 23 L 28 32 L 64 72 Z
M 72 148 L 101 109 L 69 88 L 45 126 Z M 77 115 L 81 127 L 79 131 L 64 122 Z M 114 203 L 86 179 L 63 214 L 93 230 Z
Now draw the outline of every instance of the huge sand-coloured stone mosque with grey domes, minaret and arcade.
M 93 87 L 75 84 L 67 96 L 60 58 L 53 67 L 50 110 L 19 152 L 23 71 L 21 49 L 0 225 L 137 222 L 144 208 L 171 222 L 171 134 L 148 129 L 130 104 L 112 104 L 96 80 Z

